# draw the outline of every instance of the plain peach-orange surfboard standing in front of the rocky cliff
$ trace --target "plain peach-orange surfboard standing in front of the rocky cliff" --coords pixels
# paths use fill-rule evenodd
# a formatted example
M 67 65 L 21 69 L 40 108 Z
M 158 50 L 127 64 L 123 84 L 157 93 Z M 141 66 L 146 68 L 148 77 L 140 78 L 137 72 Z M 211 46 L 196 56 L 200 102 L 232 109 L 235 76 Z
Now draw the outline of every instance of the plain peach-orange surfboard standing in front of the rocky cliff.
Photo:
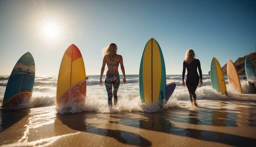
M 227 63 L 227 75 L 228 75 L 228 84 L 238 92 L 242 93 L 240 79 L 239 79 L 236 67 L 231 60 L 228 60 L 228 63 Z

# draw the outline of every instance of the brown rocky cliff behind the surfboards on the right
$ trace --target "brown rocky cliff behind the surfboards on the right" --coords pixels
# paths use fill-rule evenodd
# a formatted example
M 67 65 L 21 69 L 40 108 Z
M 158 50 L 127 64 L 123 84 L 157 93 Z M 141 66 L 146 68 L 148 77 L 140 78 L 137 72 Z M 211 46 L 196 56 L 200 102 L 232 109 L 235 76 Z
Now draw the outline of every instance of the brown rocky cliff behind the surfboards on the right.
M 238 58 L 236 62 L 233 61 L 238 74 L 245 74 L 244 61 L 246 58 L 250 59 L 250 61 L 254 65 L 254 68 L 256 69 L 256 52 L 254 52 L 244 57 Z M 227 74 L 227 64 L 222 67 L 222 72 L 223 74 Z M 208 74 L 210 75 L 210 71 L 208 72 Z

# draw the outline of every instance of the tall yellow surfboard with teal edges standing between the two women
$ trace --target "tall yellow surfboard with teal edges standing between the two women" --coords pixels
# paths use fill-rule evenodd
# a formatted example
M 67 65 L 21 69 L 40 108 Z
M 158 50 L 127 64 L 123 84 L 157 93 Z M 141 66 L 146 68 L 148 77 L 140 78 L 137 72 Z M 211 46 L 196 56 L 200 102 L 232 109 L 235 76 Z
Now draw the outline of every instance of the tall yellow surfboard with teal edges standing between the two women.
M 141 56 L 139 88 L 141 102 L 162 106 L 166 90 L 165 64 L 161 48 L 153 38 L 147 42 Z

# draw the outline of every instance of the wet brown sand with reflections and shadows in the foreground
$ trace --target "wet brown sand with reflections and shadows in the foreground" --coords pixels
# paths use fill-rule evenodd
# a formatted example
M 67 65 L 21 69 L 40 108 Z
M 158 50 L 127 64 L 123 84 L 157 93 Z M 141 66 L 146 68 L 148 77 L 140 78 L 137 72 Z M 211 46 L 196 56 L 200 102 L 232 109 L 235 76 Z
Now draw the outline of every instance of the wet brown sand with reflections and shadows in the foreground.
M 255 146 L 255 100 L 207 101 L 211 106 L 153 113 L 60 115 L 55 106 L 2 110 L 0 145 Z

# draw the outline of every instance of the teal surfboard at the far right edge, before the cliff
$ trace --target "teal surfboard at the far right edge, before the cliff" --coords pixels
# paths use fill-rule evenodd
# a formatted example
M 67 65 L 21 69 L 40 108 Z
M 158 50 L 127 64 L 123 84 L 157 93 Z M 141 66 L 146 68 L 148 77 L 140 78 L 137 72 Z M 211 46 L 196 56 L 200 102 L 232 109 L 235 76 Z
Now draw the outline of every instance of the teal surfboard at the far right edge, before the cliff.
M 251 63 L 251 61 L 248 58 L 245 59 L 244 63 L 245 63 L 245 74 L 246 74 L 247 80 L 252 83 L 255 83 L 256 82 L 256 73 L 255 73 L 253 64 Z

